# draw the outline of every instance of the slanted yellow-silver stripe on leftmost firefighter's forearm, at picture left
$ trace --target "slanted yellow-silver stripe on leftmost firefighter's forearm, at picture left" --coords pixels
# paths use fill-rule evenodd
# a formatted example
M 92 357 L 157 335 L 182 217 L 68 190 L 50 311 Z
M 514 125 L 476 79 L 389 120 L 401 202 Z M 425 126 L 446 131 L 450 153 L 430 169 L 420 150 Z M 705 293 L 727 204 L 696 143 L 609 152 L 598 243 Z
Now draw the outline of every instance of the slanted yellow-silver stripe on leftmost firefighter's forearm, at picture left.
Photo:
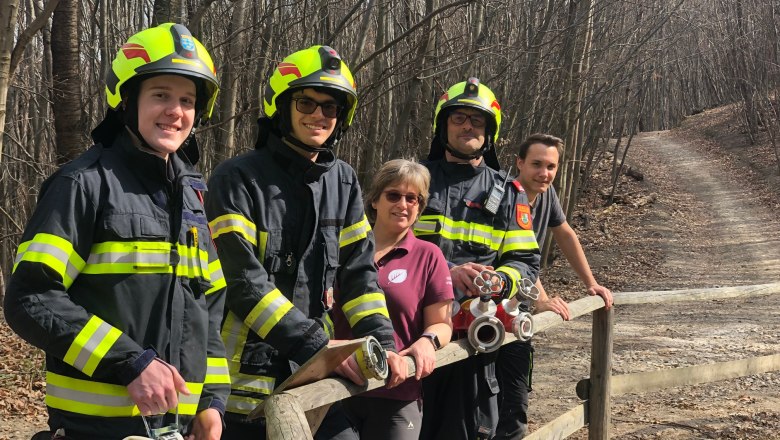
M 92 376 L 98 363 L 108 353 L 122 332 L 107 322 L 92 316 L 70 344 L 63 361 Z

